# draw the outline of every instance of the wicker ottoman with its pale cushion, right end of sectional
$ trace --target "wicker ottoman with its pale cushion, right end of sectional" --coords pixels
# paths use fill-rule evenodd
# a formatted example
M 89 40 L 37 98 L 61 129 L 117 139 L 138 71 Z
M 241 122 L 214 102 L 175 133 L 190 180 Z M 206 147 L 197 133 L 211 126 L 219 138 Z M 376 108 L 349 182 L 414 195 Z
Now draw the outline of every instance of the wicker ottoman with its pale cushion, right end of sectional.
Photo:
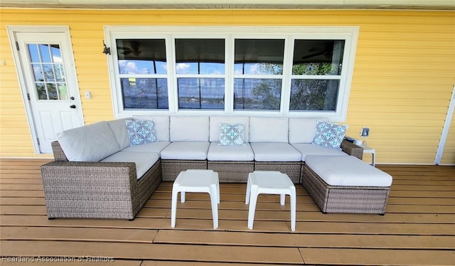
M 302 185 L 323 213 L 385 213 L 392 176 L 354 156 L 306 156 Z

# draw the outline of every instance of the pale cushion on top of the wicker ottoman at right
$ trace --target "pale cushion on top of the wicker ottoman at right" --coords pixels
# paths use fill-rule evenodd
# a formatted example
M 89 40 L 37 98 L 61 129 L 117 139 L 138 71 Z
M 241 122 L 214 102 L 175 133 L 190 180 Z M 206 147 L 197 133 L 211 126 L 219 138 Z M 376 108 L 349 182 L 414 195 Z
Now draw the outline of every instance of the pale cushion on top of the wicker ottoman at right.
M 306 156 L 306 165 L 330 186 L 390 186 L 392 176 L 355 156 Z

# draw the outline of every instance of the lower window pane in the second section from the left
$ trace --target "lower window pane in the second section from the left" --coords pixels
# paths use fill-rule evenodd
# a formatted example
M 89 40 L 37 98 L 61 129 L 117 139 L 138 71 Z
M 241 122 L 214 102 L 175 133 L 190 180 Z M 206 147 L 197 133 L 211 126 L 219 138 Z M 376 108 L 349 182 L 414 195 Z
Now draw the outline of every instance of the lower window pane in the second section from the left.
M 178 78 L 179 109 L 225 109 L 224 78 Z

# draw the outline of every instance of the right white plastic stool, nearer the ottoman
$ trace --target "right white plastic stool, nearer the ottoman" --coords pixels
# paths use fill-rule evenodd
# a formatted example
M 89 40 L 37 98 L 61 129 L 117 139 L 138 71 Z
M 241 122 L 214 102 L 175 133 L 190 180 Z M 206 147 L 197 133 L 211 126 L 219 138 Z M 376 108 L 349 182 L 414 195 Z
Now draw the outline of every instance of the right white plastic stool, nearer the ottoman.
M 245 203 L 250 203 L 248 228 L 253 228 L 257 196 L 259 194 L 279 194 L 279 203 L 284 205 L 286 195 L 291 198 L 291 230 L 296 230 L 296 187 L 287 174 L 279 171 L 253 171 L 248 175 Z

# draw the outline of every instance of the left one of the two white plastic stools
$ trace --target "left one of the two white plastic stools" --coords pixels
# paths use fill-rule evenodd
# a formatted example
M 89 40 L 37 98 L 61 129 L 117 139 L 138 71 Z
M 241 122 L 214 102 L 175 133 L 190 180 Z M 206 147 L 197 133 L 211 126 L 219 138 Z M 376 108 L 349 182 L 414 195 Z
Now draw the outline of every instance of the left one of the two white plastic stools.
M 218 228 L 218 203 L 220 203 L 220 182 L 218 173 L 212 170 L 190 169 L 181 171 L 172 186 L 171 227 L 176 226 L 177 196 L 185 202 L 186 192 L 205 192 L 210 194 L 212 204 L 213 229 Z

